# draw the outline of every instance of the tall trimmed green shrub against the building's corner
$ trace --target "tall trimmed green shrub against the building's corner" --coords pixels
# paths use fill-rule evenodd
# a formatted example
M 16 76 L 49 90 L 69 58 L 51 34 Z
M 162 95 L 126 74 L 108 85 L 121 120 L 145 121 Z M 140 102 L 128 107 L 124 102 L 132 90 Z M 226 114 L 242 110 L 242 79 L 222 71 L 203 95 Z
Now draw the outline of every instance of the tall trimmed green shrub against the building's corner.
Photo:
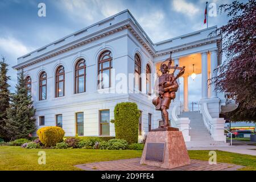
M 136 103 L 122 102 L 115 106 L 115 138 L 138 143 L 139 110 Z

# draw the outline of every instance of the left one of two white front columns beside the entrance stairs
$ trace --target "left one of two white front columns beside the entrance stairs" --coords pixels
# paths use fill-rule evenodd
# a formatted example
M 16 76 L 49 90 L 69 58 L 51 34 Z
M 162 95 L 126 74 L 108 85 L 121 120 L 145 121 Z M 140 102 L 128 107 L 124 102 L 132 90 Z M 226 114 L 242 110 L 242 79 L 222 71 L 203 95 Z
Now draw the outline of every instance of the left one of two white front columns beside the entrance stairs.
M 207 84 L 207 52 L 201 53 L 202 61 L 202 100 L 208 98 L 208 84 Z

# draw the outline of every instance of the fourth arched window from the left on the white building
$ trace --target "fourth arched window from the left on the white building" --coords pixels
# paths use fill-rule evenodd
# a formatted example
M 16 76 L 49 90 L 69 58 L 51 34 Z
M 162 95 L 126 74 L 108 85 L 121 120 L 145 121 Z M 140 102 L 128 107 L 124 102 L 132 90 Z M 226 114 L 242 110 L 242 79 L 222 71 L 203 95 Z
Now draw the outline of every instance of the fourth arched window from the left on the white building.
M 75 93 L 85 92 L 86 64 L 80 59 L 75 67 Z

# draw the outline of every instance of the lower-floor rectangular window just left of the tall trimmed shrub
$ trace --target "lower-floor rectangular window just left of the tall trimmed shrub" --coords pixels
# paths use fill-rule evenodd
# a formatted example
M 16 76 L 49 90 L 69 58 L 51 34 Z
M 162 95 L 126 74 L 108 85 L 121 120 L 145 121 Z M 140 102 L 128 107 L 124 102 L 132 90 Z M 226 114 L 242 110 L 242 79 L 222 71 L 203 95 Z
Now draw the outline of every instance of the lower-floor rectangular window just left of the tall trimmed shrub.
M 101 110 L 100 111 L 100 135 L 101 136 L 110 135 L 109 121 L 110 121 L 109 110 Z

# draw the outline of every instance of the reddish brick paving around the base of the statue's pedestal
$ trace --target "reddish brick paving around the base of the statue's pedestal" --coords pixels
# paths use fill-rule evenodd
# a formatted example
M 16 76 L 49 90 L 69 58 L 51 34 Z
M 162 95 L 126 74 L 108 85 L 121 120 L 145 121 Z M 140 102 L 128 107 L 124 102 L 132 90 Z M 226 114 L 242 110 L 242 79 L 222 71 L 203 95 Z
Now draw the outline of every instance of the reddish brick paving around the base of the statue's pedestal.
M 76 167 L 88 171 L 236 171 L 243 166 L 217 163 L 210 165 L 208 161 L 191 160 L 191 164 L 173 169 L 165 169 L 139 164 L 141 158 L 112 160 L 106 162 L 81 164 Z

